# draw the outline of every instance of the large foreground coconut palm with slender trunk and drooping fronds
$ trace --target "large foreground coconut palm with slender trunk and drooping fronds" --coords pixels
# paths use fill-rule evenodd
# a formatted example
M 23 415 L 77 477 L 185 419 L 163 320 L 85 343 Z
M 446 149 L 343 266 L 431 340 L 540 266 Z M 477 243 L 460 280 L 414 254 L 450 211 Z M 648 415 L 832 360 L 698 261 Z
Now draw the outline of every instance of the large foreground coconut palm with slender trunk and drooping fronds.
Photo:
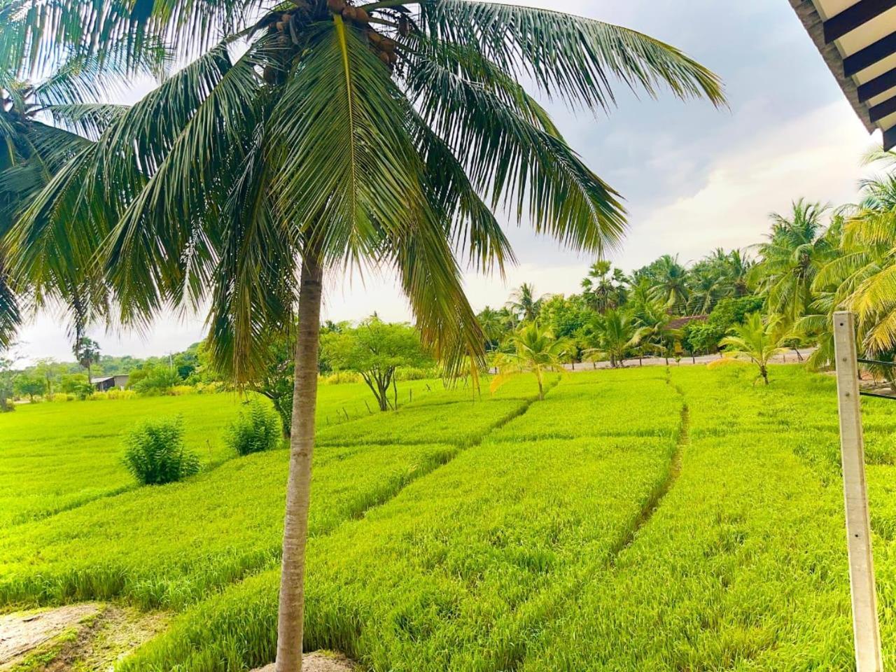
M 481 365 L 457 256 L 479 270 L 513 261 L 495 207 L 593 254 L 625 231 L 616 193 L 518 79 L 590 109 L 612 105 L 614 78 L 650 95 L 665 85 L 721 104 L 722 93 L 655 39 L 515 4 L 120 4 L 56 0 L 56 30 L 7 31 L 37 49 L 90 51 L 114 34 L 198 54 L 30 204 L 15 267 L 43 288 L 40 242 L 76 234 L 106 268 L 123 323 L 211 305 L 211 355 L 237 382 L 263 367 L 271 332 L 297 321 L 277 646 L 278 672 L 295 672 L 324 271 L 395 269 L 445 374 Z

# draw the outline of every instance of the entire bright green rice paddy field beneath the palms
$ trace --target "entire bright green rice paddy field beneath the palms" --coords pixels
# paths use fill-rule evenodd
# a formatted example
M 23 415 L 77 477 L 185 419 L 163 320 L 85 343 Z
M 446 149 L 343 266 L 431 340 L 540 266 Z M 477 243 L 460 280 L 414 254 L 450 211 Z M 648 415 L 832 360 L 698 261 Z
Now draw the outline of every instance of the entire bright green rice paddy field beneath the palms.
M 306 650 L 376 672 L 853 668 L 833 379 L 797 366 L 576 373 L 537 401 L 322 387 Z M 0 610 L 171 615 L 120 672 L 274 656 L 288 453 L 237 458 L 228 395 L 0 416 Z M 121 434 L 184 418 L 203 470 L 134 487 Z M 896 656 L 896 403 L 865 402 L 884 655 Z

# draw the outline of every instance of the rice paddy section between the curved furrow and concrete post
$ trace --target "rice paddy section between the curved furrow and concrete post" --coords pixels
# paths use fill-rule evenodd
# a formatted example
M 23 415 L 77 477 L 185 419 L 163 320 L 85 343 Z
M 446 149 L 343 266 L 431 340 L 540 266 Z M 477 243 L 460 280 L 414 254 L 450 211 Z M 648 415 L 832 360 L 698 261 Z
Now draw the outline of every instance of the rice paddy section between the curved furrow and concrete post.
M 794 450 L 797 418 L 820 431 L 831 409 L 802 372 L 773 379 L 673 371 L 692 409 L 676 486 L 523 670 L 850 668 L 840 484 Z

